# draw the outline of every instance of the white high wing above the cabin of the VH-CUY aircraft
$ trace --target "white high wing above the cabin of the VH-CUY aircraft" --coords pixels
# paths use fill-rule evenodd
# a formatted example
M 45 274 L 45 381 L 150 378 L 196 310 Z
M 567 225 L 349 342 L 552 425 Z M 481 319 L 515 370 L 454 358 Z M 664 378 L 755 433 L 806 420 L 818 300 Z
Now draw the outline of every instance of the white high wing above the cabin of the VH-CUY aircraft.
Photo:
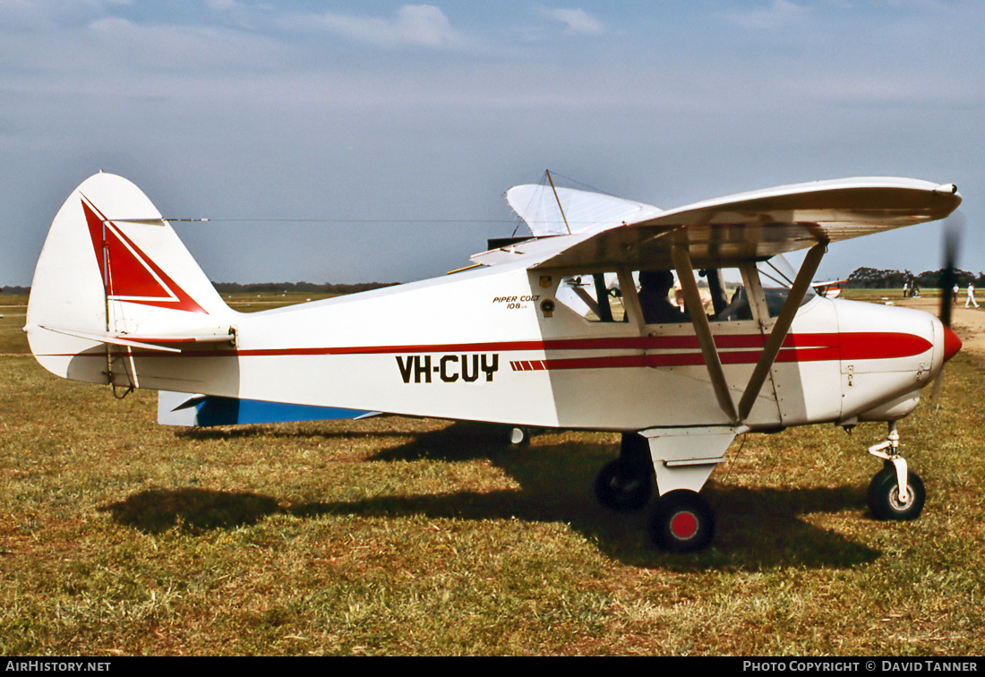
M 619 198 L 598 198 L 595 204 L 608 204 L 611 212 L 618 211 L 615 208 Z M 472 259 L 483 265 L 524 260 L 528 267 L 536 269 L 670 269 L 674 267 L 672 250 L 684 246 L 695 267 L 726 267 L 819 243 L 943 219 L 960 203 L 961 196 L 952 183 L 895 177 L 814 181 L 740 193 L 665 212 L 657 210 L 656 214 L 641 209 L 642 218 L 624 225 L 614 223 L 610 216 L 572 235 L 520 242 L 475 254 Z M 565 211 L 565 218 L 579 223 L 590 221 L 593 214 Z

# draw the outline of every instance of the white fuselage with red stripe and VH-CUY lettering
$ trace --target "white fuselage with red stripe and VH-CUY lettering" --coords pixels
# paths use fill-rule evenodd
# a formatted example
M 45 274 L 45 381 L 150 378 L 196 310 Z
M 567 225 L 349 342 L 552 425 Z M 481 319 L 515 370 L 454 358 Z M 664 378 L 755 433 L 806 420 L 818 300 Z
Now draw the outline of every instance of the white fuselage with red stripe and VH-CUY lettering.
M 590 430 L 729 424 L 688 320 L 645 324 L 627 304 L 626 321 L 590 321 L 557 302 L 562 276 L 500 266 L 230 310 L 215 319 L 234 328 L 234 347 L 136 349 L 126 359 L 141 387 L 242 399 Z M 761 354 L 760 324 L 711 326 L 738 400 Z M 122 361 L 125 351 L 113 350 Z M 104 346 L 94 348 L 71 371 L 105 382 L 104 356 Z M 814 297 L 798 310 L 744 424 L 899 418 L 943 359 L 943 327 L 926 312 Z M 114 372 L 126 384 L 126 370 Z

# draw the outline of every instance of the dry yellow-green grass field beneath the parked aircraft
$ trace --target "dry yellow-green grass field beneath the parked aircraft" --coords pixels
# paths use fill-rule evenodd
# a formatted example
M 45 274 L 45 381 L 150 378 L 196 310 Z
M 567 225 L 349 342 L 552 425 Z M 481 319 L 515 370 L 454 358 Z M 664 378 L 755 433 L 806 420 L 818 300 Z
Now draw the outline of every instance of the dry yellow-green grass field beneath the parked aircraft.
M 23 308 L 0 312 L 19 352 Z M 0 357 L 0 653 L 980 654 L 983 373 L 959 354 L 900 426 L 920 519 L 865 507 L 884 425 L 749 435 L 704 490 L 713 546 L 682 557 L 596 505 L 614 435 L 175 434 L 153 392 Z

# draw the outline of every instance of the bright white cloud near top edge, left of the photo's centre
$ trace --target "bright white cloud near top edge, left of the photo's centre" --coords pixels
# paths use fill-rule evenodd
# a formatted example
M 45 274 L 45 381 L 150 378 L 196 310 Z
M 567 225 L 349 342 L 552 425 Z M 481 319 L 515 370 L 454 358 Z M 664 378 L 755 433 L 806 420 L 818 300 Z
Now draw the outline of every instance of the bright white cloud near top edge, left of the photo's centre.
M 444 13 L 433 5 L 403 5 L 389 18 L 326 12 L 294 23 L 384 47 L 458 47 L 468 41 L 451 28 Z

